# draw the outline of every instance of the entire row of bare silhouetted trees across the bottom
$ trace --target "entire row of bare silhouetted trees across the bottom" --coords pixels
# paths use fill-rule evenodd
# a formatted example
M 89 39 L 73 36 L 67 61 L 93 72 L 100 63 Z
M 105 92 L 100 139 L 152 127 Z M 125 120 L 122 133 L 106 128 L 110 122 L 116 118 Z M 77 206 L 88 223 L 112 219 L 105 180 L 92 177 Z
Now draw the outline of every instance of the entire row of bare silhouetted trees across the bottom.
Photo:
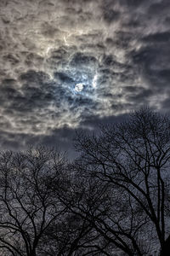
M 77 160 L 48 148 L 0 154 L 0 254 L 170 252 L 170 118 L 140 109 L 79 132 Z

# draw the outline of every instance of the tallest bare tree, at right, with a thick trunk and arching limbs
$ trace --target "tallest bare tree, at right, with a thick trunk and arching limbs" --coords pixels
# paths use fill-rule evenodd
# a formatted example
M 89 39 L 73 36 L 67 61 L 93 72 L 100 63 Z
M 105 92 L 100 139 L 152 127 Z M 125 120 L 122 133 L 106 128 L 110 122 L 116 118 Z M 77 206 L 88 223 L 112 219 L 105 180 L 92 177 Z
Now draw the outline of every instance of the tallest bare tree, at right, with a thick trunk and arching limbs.
M 75 144 L 81 153 L 77 169 L 122 191 L 120 206 L 106 212 L 105 222 L 95 218 L 96 230 L 127 255 L 148 255 L 156 241 L 161 255 L 168 255 L 169 117 L 143 108 L 103 126 L 98 136 L 77 134 Z

